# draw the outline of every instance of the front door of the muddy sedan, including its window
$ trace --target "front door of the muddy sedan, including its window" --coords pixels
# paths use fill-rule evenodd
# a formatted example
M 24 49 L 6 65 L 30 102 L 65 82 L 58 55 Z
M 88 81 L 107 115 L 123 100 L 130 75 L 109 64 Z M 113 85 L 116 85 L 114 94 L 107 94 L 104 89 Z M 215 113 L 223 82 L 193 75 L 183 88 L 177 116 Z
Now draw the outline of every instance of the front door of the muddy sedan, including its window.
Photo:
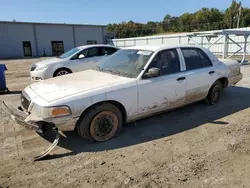
M 149 68 L 159 68 L 160 75 L 138 81 L 139 116 L 183 105 L 187 81 L 181 67 L 177 49 L 163 50 L 155 56 Z

